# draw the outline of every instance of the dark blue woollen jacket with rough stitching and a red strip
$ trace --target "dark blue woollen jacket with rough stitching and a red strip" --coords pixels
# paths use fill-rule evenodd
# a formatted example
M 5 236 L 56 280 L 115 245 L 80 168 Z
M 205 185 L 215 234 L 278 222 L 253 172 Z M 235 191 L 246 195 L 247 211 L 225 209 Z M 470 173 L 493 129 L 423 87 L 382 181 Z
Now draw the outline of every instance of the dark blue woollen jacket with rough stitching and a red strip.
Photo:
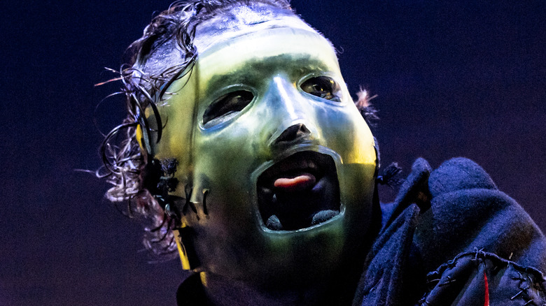
M 546 239 L 476 163 L 418 159 L 383 210 L 353 305 L 546 305 Z

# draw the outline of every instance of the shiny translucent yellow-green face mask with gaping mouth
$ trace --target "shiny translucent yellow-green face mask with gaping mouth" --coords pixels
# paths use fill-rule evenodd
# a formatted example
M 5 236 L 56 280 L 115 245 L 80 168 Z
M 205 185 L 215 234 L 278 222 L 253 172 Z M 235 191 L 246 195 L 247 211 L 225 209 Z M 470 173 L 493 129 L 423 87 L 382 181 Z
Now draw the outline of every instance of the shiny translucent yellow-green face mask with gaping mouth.
M 183 265 L 264 285 L 329 277 L 365 256 L 372 133 L 316 31 L 229 35 L 158 102 L 151 154 L 179 162 Z

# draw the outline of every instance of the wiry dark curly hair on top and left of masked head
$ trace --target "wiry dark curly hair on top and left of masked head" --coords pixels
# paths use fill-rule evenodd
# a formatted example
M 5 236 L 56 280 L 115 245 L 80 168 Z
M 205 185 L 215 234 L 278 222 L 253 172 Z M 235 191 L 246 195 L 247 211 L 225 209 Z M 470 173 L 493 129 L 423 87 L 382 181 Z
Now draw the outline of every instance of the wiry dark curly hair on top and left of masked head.
M 119 76 L 107 82 L 122 82 L 122 88 L 116 94 L 125 95 L 127 117 L 106 135 L 100 147 L 105 171 L 97 171 L 97 176 L 106 177 L 113 184 L 106 192 L 106 198 L 115 203 L 116 207 L 123 206 L 120 210 L 129 217 L 151 221 L 145 228 L 144 245 L 153 254 L 176 257 L 173 230 L 179 220 L 165 212 L 165 201 L 156 198 L 160 189 L 156 179 L 160 177 L 158 173 L 162 172 L 162 166 L 148 156 L 148 146 L 151 141 L 158 142 L 161 139 L 165 124 L 156 105 L 168 94 L 166 90 L 169 85 L 190 73 L 197 60 L 197 49 L 193 44 L 195 28 L 237 4 L 264 3 L 291 11 L 288 1 L 176 1 L 168 10 L 154 17 L 144 29 L 143 36 L 127 48 L 130 63 L 124 64 L 120 71 L 111 70 Z M 146 108 L 153 112 L 154 122 L 146 119 Z M 144 150 L 141 150 L 137 141 L 138 126 L 142 132 Z

